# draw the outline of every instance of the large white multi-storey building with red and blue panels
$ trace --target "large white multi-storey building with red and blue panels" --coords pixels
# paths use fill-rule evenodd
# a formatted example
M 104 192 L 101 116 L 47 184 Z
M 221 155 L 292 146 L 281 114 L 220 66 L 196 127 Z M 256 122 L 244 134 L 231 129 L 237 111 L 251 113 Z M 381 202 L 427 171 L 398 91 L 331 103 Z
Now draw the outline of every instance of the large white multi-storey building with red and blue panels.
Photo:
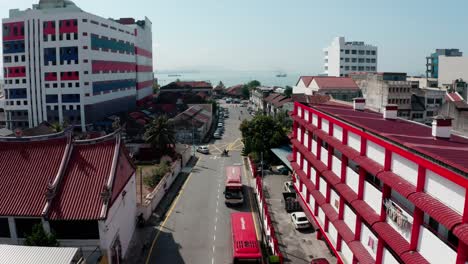
M 3 19 L 10 129 L 43 121 L 83 130 L 151 98 L 151 22 L 105 19 L 71 1 L 40 0 Z

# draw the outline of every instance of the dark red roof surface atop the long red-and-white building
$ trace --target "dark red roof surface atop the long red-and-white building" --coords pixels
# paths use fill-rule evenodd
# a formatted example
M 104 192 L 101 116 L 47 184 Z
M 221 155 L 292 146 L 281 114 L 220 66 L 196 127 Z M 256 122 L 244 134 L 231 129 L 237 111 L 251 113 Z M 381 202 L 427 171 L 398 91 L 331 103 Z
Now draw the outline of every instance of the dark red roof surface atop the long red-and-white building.
M 387 120 L 382 114 L 367 110 L 354 111 L 348 106 L 314 107 L 468 173 L 468 139 L 456 135 L 452 135 L 450 140 L 435 139 L 431 127 L 401 119 Z

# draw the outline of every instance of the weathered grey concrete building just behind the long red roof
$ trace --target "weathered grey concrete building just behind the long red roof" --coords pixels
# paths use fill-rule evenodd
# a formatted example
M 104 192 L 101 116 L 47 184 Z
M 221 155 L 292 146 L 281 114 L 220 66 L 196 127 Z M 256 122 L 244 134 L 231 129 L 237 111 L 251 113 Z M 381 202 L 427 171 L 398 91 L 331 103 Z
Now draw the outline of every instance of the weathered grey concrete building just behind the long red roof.
M 361 88 L 366 107 L 383 112 L 386 105 L 395 104 L 399 117 L 411 117 L 411 82 L 406 80 L 406 73 L 355 72 L 350 76 Z

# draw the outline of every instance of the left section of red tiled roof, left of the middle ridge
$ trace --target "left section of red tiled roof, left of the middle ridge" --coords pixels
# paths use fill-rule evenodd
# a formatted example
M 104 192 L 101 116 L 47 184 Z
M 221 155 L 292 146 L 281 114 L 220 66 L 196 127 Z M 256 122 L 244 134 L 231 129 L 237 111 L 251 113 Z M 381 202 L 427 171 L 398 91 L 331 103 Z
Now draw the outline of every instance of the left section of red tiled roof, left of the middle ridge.
M 67 139 L 0 141 L 0 215 L 40 216 L 59 171 Z

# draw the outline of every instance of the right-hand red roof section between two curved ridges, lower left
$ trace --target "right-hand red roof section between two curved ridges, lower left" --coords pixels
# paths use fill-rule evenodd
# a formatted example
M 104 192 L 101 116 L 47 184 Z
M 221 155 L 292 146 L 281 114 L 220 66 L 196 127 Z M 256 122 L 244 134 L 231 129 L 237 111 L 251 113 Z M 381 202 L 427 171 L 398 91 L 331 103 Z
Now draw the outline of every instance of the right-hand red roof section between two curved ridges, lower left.
M 115 139 L 74 146 L 61 188 L 52 202 L 51 219 L 100 219 L 101 192 L 109 179 L 115 146 Z

